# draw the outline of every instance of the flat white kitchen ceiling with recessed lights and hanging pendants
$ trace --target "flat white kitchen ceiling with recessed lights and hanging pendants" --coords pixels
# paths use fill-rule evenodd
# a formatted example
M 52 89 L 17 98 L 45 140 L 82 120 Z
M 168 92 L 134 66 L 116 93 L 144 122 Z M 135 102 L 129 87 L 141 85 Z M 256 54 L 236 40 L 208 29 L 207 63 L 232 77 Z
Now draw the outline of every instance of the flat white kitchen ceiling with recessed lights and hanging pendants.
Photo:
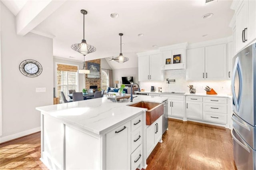
M 83 56 L 70 46 L 83 38 L 80 10 L 84 9 L 88 11 L 85 39 L 97 49 L 86 55 L 86 60 L 118 56 L 118 34 L 123 33 L 122 53 L 130 60 L 126 63 L 110 61 L 109 64 L 113 69 L 138 67 L 136 53 L 157 49 L 152 45 L 160 47 L 231 36 L 232 30 L 228 27 L 234 14 L 231 3 L 232 0 L 218 0 L 207 5 L 203 0 L 72 0 L 66 1 L 32 32 L 54 35 L 54 56 L 83 61 Z M 118 13 L 119 18 L 110 18 L 113 12 Z M 214 16 L 202 19 L 207 13 Z M 140 33 L 144 36 L 138 37 Z M 205 34 L 208 36 L 202 37 Z

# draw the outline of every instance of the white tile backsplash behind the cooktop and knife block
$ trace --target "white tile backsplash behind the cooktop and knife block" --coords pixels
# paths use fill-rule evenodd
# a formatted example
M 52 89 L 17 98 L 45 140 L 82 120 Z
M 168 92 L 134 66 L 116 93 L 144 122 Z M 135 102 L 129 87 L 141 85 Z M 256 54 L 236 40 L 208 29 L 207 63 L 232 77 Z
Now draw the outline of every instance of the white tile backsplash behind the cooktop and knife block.
M 164 71 L 164 81 L 141 81 L 140 88 L 150 91 L 151 86 L 162 87 L 162 91 L 176 91 L 189 93 L 188 85 L 194 85 L 196 93 L 206 93 L 204 87 L 207 85 L 214 89 L 218 94 L 231 95 L 230 80 L 202 80 L 202 81 L 186 81 L 186 70 L 166 70 Z M 167 83 L 166 79 L 175 79 L 175 82 Z M 203 87 L 203 88 L 202 88 Z

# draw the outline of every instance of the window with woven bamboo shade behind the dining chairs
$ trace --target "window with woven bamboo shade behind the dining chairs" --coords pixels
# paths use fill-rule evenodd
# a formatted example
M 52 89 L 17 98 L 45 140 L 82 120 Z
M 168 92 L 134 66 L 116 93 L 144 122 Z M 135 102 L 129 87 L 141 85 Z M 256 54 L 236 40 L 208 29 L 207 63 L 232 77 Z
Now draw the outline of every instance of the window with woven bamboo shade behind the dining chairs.
M 73 65 L 57 64 L 57 95 L 62 98 L 60 92 L 63 91 L 68 100 L 68 90 L 78 91 L 78 67 Z

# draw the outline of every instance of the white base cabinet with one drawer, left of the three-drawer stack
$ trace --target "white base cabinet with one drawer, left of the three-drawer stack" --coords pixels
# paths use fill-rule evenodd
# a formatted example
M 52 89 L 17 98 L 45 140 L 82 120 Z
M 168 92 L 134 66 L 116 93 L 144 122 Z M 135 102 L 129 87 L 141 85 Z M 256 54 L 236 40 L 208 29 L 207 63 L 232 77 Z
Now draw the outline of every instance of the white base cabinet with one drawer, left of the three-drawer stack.
M 186 96 L 186 114 L 190 119 L 203 119 L 203 104 L 200 96 Z

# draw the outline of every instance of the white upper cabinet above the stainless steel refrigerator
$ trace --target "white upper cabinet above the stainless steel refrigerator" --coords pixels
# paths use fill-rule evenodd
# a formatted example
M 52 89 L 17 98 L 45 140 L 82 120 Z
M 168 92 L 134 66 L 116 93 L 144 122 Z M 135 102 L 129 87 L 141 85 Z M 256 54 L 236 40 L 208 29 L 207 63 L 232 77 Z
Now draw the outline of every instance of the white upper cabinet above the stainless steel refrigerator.
M 234 1 L 231 8 L 235 10 L 236 52 L 238 52 L 256 39 L 256 1 Z

